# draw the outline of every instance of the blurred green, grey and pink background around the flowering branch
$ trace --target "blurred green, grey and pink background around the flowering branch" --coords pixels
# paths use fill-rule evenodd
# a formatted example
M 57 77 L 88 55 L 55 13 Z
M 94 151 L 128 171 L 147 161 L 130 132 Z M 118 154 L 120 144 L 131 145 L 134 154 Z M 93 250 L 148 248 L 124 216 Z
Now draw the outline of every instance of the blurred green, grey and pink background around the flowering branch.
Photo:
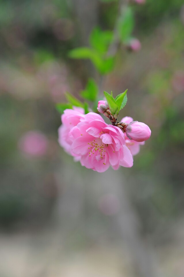
M 98 80 L 68 52 L 113 30 L 118 7 L 0 1 L 0 277 L 184 276 L 183 0 L 132 1 L 141 45 L 103 81 L 152 130 L 134 166 L 96 173 L 58 145 L 55 104 Z

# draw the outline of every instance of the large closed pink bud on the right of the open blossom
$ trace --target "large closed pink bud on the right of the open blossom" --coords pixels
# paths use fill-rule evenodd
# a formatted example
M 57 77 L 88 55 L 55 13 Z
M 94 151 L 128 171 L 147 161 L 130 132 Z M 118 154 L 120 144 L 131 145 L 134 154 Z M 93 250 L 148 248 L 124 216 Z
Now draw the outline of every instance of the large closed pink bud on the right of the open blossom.
M 125 132 L 129 139 L 138 142 L 146 141 L 151 136 L 151 130 L 149 127 L 145 123 L 138 121 L 130 122 L 126 127 Z

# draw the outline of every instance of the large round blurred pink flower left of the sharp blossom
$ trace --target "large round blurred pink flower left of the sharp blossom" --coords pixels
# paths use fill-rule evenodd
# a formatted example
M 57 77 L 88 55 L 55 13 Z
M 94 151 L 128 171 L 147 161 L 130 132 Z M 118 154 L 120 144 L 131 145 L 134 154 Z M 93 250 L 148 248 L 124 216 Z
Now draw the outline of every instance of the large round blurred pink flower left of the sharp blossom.
M 29 131 L 20 138 L 18 146 L 24 154 L 43 156 L 48 149 L 48 139 L 41 132 Z

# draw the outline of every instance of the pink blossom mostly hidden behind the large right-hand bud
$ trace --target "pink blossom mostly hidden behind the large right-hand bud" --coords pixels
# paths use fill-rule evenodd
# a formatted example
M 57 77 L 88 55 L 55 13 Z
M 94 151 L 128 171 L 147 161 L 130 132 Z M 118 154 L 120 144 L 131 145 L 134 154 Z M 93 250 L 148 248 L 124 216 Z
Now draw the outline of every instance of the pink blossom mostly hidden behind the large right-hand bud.
M 123 117 L 122 120 L 121 120 L 121 122 L 125 122 L 127 124 L 129 124 L 132 121 L 133 121 L 133 118 L 129 117 L 129 116 Z M 128 147 L 128 149 L 130 149 L 130 152 L 131 152 L 132 156 L 137 155 L 140 151 L 140 145 L 145 144 L 144 141 L 143 142 L 138 142 L 138 141 L 130 140 L 126 136 L 126 133 L 125 133 L 125 143 L 126 143 L 126 146 Z

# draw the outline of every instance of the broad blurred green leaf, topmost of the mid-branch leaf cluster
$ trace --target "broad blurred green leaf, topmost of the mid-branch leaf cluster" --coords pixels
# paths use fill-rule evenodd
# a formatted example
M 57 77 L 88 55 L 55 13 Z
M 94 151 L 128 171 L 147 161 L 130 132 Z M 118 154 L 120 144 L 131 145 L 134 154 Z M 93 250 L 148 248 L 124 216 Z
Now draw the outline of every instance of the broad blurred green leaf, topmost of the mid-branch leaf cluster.
M 102 31 L 100 27 L 95 27 L 90 34 L 90 44 L 92 48 L 100 54 L 105 54 L 107 52 L 112 39 L 113 32 Z

